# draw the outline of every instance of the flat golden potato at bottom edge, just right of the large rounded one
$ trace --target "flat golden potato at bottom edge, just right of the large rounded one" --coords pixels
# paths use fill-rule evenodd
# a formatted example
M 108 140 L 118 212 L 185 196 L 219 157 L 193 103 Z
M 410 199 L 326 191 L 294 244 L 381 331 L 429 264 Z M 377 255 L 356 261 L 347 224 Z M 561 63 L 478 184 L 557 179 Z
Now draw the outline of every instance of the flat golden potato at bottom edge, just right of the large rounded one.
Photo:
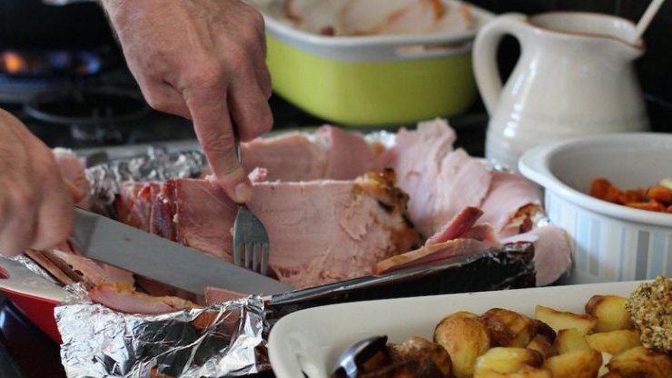
M 540 367 L 544 357 L 537 351 L 524 348 L 491 348 L 476 360 L 474 373 L 493 370 L 498 373 L 516 373 L 524 366 Z

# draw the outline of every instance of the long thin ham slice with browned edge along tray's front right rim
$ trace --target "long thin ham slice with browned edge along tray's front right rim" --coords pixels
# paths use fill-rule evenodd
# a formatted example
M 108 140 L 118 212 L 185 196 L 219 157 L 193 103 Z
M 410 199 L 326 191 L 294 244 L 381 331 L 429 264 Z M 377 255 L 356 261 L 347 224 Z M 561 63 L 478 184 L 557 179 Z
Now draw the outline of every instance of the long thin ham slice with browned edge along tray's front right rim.
M 373 274 L 387 274 L 400 269 L 436 264 L 451 257 L 479 254 L 491 248 L 492 245 L 474 239 L 453 239 L 383 260 L 373 268 Z

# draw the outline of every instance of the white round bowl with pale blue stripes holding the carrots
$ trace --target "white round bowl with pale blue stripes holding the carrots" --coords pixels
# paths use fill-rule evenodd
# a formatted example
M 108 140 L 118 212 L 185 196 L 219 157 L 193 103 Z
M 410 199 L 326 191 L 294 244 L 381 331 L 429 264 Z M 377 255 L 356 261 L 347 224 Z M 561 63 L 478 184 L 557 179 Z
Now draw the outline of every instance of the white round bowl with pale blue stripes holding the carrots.
M 672 134 L 603 134 L 546 144 L 523 154 L 519 171 L 544 187 L 551 223 L 571 236 L 569 284 L 672 276 L 672 214 L 588 195 L 598 177 L 625 190 L 672 176 Z

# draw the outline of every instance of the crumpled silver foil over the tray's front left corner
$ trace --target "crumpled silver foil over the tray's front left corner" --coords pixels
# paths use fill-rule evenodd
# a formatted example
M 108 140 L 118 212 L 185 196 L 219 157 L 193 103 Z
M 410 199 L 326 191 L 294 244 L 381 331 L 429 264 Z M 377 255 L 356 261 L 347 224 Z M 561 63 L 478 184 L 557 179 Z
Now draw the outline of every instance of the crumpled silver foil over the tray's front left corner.
M 160 315 L 118 313 L 80 297 L 54 312 L 63 338 L 61 362 L 71 378 L 199 378 L 267 371 L 263 313 L 259 296 Z

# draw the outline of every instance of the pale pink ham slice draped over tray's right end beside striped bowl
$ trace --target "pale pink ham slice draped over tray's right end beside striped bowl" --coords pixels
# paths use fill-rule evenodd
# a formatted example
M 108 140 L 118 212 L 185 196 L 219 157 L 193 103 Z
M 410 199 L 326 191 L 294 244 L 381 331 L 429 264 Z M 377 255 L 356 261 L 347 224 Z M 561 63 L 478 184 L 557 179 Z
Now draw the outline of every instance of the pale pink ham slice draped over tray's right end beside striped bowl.
M 568 235 L 554 225 L 545 225 L 529 233 L 510 236 L 502 243 L 531 242 L 534 244 L 534 266 L 537 285 L 552 284 L 571 267 Z

